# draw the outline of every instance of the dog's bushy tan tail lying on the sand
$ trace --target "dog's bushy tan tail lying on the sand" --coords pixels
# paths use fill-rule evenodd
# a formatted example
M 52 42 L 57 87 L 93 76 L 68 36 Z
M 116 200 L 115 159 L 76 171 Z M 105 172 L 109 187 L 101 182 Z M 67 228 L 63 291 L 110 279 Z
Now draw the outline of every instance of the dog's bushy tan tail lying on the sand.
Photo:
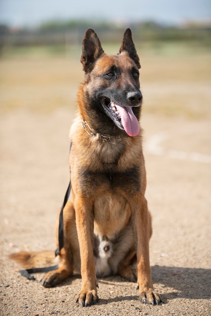
M 9 255 L 9 258 L 15 260 L 24 269 L 41 268 L 55 265 L 54 251 L 19 251 Z

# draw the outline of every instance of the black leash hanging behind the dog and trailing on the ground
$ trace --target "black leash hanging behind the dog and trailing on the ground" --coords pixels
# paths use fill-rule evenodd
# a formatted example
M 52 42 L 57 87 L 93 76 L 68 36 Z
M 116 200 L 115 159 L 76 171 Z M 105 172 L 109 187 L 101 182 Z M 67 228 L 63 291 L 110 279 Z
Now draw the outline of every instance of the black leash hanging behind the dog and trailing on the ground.
M 70 149 L 72 146 L 72 142 L 70 143 Z M 65 205 L 67 204 L 69 195 L 71 191 L 71 181 L 69 182 L 67 191 L 65 193 L 64 201 L 60 210 L 59 214 L 59 247 L 55 250 L 55 255 L 57 256 L 60 252 L 60 250 L 64 247 L 64 222 L 63 222 L 63 210 Z M 49 271 L 54 271 L 58 268 L 58 265 L 56 266 L 51 266 L 51 267 L 45 267 L 45 268 L 31 268 L 31 269 L 25 269 L 25 270 L 20 270 L 20 274 L 27 278 L 28 280 L 35 280 L 34 276 L 31 276 L 31 273 L 39 273 L 39 272 L 49 272 Z

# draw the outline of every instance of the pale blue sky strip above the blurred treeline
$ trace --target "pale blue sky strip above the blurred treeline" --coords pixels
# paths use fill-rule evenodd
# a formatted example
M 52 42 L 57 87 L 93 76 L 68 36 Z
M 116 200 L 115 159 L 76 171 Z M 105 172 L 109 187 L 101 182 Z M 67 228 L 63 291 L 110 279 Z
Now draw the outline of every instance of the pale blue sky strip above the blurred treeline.
M 122 25 L 153 21 L 164 25 L 186 23 L 211 23 L 209 0 L 117 0 L 99 2 L 78 0 L 70 5 L 69 0 L 0 0 L 0 24 L 9 28 L 36 28 L 49 21 L 90 20 Z

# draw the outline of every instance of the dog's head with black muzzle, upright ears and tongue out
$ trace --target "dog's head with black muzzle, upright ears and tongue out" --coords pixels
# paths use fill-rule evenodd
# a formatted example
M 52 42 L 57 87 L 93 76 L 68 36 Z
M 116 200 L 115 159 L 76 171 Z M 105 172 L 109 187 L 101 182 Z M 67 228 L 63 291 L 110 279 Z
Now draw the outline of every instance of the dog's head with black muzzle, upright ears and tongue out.
M 118 54 L 106 55 L 97 34 L 88 29 L 82 41 L 81 63 L 90 125 L 98 133 L 136 136 L 142 103 L 141 66 L 131 30 L 125 30 Z

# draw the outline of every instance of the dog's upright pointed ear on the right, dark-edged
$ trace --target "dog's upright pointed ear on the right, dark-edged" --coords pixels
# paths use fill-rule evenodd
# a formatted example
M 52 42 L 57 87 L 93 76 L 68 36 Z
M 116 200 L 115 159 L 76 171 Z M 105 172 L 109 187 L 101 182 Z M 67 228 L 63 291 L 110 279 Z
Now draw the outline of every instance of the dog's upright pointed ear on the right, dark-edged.
M 134 45 L 133 39 L 132 39 L 132 32 L 131 29 L 127 28 L 124 32 L 121 47 L 119 49 L 119 54 L 122 51 L 127 51 L 130 58 L 136 63 L 138 68 L 141 68 L 139 57 L 137 55 L 136 47 Z

